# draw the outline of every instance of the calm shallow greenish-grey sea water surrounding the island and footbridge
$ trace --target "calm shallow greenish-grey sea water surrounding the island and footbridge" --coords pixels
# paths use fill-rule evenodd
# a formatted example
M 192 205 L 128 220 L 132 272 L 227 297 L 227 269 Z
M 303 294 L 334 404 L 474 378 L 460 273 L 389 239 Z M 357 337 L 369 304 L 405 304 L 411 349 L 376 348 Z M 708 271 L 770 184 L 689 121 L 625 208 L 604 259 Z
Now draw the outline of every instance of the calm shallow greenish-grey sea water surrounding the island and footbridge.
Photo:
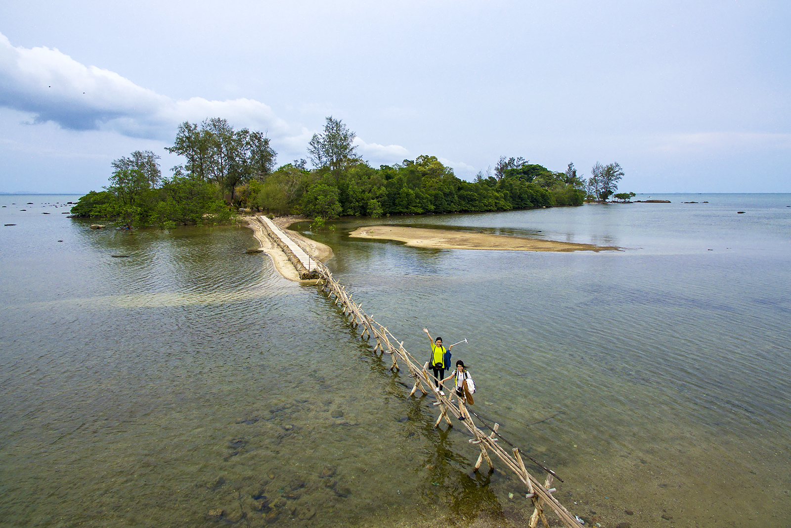
M 531 513 L 497 459 L 471 473 L 466 429 L 434 429 L 430 398 L 407 397 L 411 378 L 316 287 L 244 254 L 250 230 L 91 230 L 62 214 L 77 198 L 0 196 L 16 224 L 0 226 L 0 526 Z M 295 227 L 331 245 L 335 278 L 413 355 L 428 357 L 424 326 L 467 339 L 453 359 L 473 410 L 562 477 L 585 526 L 789 526 L 791 195 L 650 198 L 672 203 Z M 621 250 L 347 236 L 383 223 Z

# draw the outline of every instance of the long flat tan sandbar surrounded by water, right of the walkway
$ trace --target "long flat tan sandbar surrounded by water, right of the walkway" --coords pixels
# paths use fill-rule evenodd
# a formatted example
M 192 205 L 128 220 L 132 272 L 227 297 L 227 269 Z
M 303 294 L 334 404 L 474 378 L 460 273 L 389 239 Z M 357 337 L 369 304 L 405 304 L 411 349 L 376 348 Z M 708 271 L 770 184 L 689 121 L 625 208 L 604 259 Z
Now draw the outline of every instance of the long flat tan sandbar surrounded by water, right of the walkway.
M 618 251 L 609 245 L 575 244 L 537 238 L 507 237 L 499 234 L 466 233 L 404 226 L 365 226 L 352 231 L 350 237 L 377 238 L 406 242 L 418 248 L 495 249 L 508 251 Z

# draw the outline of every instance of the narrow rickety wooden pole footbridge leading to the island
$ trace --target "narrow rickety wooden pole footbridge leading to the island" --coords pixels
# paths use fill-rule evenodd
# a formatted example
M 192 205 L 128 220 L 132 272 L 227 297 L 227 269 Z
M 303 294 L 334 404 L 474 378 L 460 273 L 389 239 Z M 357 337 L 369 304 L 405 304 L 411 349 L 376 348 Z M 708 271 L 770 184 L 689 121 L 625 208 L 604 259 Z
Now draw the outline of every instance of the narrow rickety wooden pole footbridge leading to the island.
M 551 469 L 547 469 L 540 465 L 539 462 L 530 458 L 528 455 L 524 455 L 525 458 L 530 459 L 536 465 L 539 465 L 542 469 L 547 472 L 547 477 L 543 484 L 540 483 L 536 477 L 533 477 L 532 474 L 528 473 L 528 470 L 525 469 L 524 461 L 522 459 L 522 454 L 517 446 L 514 446 L 512 443 L 509 443 L 507 440 L 503 439 L 499 435 L 499 424 L 494 424 L 494 426 L 489 426 L 488 424 L 484 423 L 483 420 L 480 419 L 479 416 L 475 415 L 475 412 L 471 412 L 470 409 L 467 409 L 463 403 L 459 402 L 460 408 L 457 408 L 454 405 L 454 401 L 452 401 L 449 397 L 440 393 L 437 386 L 433 383 L 433 375 L 429 374 L 428 367 L 429 363 L 426 362 L 422 366 L 419 365 L 418 361 L 414 359 L 414 357 L 405 349 L 403 348 L 403 341 L 399 341 L 393 336 L 386 327 L 380 325 L 377 321 L 374 321 L 373 318 L 369 317 L 365 312 L 361 309 L 361 303 L 354 302 L 352 300 L 352 295 L 346 292 L 346 287 L 340 285 L 335 279 L 332 277 L 332 273 L 330 272 L 329 268 L 324 264 L 312 260 L 308 253 L 301 248 L 301 246 L 297 243 L 297 241 L 293 240 L 289 237 L 283 230 L 280 230 L 278 226 L 274 225 L 269 218 L 266 217 L 258 217 L 259 220 L 267 227 L 267 234 L 273 238 L 273 241 L 277 243 L 284 251 L 286 251 L 286 255 L 289 256 L 289 259 L 294 262 L 297 260 L 302 268 L 297 268 L 297 272 L 300 272 L 300 275 L 305 275 L 306 272 L 308 275 L 311 276 L 303 276 L 304 279 L 308 278 L 320 278 L 320 287 L 325 294 L 327 294 L 330 298 L 335 298 L 335 304 L 338 305 L 343 313 L 351 318 L 350 324 L 354 327 L 358 327 L 360 325 L 363 326 L 363 330 L 361 332 L 361 337 L 370 340 L 373 337 L 377 344 L 374 346 L 373 351 L 380 350 L 383 354 L 392 355 L 392 366 L 390 370 L 398 371 L 399 368 L 399 360 L 403 365 L 407 367 L 410 372 L 410 378 L 414 379 L 414 386 L 412 386 L 412 390 L 410 396 L 416 393 L 418 390 L 425 394 L 433 395 L 434 399 L 436 400 L 433 405 L 437 406 L 439 410 L 439 416 L 437 417 L 437 422 L 434 424 L 434 427 L 439 426 L 442 420 L 445 420 L 448 424 L 452 424 L 448 413 L 456 416 L 459 418 L 462 416 L 461 412 L 465 413 L 465 420 L 462 420 L 460 424 L 464 424 L 464 427 L 470 431 L 473 438 L 469 440 L 471 444 L 478 446 L 481 450 L 481 453 L 478 456 L 478 460 L 475 462 L 475 471 L 477 471 L 480 466 L 483 464 L 483 461 L 486 461 L 486 464 L 489 466 L 489 470 L 494 470 L 494 465 L 492 463 L 490 454 L 494 454 L 497 458 L 501 460 L 513 473 L 517 474 L 520 481 L 524 482 L 524 485 L 527 487 L 527 497 L 528 499 L 532 500 L 534 511 L 530 518 L 530 522 L 528 526 L 530 528 L 536 528 L 538 526 L 539 520 L 542 522 L 545 528 L 548 528 L 549 523 L 547 522 L 547 518 L 544 515 L 544 512 L 547 510 L 547 507 L 554 511 L 554 513 L 558 516 L 560 521 L 562 522 L 563 526 L 567 526 L 568 528 L 580 528 L 582 526 L 581 522 L 577 520 L 574 515 L 571 515 L 568 510 L 561 503 L 558 502 L 552 496 L 552 492 L 554 492 L 554 488 L 551 488 L 553 477 L 558 477 Z M 289 255 L 289 251 L 293 251 L 291 248 L 296 247 L 298 250 L 294 251 L 291 255 Z M 298 256 L 297 256 L 298 255 Z M 297 265 L 295 264 L 295 267 Z M 315 275 L 315 277 L 313 276 Z M 448 393 L 452 393 L 452 391 L 448 391 Z M 461 410 L 460 410 L 461 409 Z M 476 418 L 481 421 L 484 427 L 488 430 L 488 434 L 486 431 L 480 429 L 472 420 L 472 415 L 475 415 Z M 501 443 L 507 443 L 510 450 L 506 450 Z M 558 481 L 562 480 L 558 477 Z

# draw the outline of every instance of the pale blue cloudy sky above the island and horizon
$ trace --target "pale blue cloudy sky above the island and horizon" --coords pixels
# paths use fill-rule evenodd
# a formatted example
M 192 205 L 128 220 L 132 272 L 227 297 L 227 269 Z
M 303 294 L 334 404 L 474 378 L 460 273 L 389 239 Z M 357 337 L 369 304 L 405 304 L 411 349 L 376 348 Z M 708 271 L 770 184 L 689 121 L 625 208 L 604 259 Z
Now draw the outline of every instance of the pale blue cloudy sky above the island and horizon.
M 791 192 L 791 2 L 0 0 L 0 192 L 84 193 L 180 123 L 325 117 L 377 167 L 501 156 L 625 192 Z

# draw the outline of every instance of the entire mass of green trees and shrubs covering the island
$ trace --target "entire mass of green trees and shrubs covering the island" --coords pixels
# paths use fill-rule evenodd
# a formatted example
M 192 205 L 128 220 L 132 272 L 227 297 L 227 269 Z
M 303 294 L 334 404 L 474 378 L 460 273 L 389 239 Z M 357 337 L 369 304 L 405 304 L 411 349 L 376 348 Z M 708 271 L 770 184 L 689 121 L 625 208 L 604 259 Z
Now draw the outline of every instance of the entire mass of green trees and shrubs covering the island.
M 186 162 L 172 169 L 172 177 L 161 176 L 153 152 L 134 152 L 113 161 L 105 190 L 89 192 L 72 212 L 131 228 L 221 222 L 237 207 L 324 219 L 378 218 L 581 205 L 586 198 L 573 163 L 555 173 L 524 158 L 503 157 L 494 176 L 478 173 L 466 181 L 434 156 L 374 168 L 358 157 L 355 138 L 340 120 L 327 117 L 324 133 L 308 144 L 315 168 L 299 160 L 274 170 L 276 153 L 260 132 L 235 131 L 218 118 L 182 123 L 167 150 Z

